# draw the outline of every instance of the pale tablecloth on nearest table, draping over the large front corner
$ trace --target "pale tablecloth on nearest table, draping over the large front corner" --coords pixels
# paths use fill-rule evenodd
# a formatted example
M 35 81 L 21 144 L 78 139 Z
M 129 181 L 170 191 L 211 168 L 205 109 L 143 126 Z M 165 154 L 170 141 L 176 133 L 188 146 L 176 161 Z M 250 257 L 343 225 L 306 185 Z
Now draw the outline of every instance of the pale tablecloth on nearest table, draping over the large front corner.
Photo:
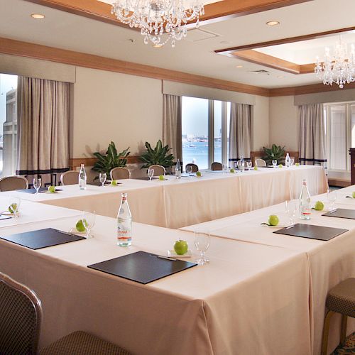
M 75 217 L 1 229 L 53 227 Z M 166 253 L 193 234 L 134 224 L 116 246 L 116 220 L 97 217 L 94 239 L 33 251 L 0 240 L 0 270 L 43 302 L 41 346 L 82 329 L 133 354 L 310 354 L 310 278 L 305 253 L 212 238 L 210 263 L 148 285 L 87 268 L 137 250 Z M 192 258 L 192 261 L 195 257 Z

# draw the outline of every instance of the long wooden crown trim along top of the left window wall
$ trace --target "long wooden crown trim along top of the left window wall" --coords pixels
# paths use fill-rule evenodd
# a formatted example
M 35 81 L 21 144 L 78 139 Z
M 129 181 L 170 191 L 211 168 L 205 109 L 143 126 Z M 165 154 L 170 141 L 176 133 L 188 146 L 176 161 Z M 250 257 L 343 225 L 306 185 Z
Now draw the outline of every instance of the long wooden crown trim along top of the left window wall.
M 120 72 L 129 75 L 138 75 L 141 77 L 151 77 L 158 80 L 170 80 L 173 82 L 183 82 L 185 84 L 194 84 L 215 89 L 244 92 L 246 94 L 261 95 L 265 97 L 268 97 L 269 94 L 269 89 L 263 87 L 219 80 L 212 77 L 204 77 L 202 75 L 192 75 L 185 72 L 178 72 L 176 70 L 125 62 L 123 60 L 47 47 L 45 45 L 37 45 L 34 43 L 22 42 L 20 40 L 11 40 L 9 38 L 0 38 L 0 53 L 49 60 L 52 62 L 61 62 L 77 65 L 79 67 Z

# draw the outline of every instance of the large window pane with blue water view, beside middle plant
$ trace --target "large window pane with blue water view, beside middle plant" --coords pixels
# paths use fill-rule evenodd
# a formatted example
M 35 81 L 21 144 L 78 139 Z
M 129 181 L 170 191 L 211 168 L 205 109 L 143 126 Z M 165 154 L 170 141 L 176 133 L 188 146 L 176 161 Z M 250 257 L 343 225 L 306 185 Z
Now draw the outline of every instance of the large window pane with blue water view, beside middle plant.
M 207 99 L 182 97 L 182 161 L 209 168 Z

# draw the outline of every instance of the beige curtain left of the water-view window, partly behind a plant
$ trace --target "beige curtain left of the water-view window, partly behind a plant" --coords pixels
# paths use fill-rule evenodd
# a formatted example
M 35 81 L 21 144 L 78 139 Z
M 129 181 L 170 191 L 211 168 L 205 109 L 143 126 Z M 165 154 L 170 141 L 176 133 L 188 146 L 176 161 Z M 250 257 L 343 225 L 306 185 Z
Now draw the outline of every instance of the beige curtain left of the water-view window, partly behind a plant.
M 170 153 L 182 162 L 182 128 L 180 96 L 163 94 L 163 143 L 170 146 Z

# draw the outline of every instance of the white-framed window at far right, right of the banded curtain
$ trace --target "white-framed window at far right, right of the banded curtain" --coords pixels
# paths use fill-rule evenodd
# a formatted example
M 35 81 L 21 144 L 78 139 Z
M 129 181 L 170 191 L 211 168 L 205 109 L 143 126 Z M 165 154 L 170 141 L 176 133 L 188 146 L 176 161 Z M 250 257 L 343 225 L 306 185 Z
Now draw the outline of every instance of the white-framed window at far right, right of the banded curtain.
M 324 105 L 329 170 L 349 170 L 355 147 L 355 103 Z

